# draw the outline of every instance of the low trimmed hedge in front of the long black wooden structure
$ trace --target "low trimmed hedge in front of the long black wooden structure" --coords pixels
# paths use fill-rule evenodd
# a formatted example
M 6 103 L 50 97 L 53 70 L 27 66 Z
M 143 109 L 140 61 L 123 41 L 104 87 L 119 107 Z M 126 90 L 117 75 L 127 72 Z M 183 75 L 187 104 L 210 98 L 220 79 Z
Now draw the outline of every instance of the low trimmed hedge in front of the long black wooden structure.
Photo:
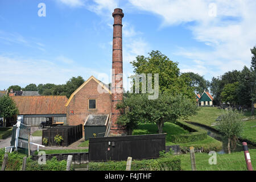
M 90 162 L 89 171 L 125 171 L 126 161 Z M 167 158 L 133 160 L 131 171 L 180 171 L 181 162 L 176 156 Z

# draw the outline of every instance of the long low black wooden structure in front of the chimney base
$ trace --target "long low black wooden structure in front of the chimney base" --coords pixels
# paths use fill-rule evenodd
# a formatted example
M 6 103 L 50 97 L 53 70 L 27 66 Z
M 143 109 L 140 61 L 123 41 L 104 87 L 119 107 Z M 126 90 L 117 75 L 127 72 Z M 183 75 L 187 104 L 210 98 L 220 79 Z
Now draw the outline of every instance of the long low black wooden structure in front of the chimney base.
M 154 159 L 166 150 L 166 134 L 89 138 L 89 160 Z

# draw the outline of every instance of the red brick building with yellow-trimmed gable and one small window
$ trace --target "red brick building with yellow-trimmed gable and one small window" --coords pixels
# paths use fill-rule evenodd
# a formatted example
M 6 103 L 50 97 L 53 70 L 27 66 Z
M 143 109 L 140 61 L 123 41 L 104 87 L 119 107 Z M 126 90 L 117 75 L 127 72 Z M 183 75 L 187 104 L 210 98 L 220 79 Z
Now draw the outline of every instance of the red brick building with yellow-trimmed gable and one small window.
M 108 85 L 91 76 L 71 94 L 65 106 L 67 124 L 83 125 L 89 114 L 111 114 L 111 91 Z

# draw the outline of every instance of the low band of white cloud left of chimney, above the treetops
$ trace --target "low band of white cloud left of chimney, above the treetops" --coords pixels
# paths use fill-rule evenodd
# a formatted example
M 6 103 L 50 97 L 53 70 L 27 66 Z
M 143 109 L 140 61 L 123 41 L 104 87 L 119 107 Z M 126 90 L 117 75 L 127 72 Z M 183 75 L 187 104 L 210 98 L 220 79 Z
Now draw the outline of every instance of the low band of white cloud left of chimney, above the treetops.
M 63 58 L 63 56 L 60 56 Z M 65 60 L 65 57 L 64 57 Z M 26 59 L 23 57 L 0 55 L 1 74 L 0 88 L 10 85 L 26 86 L 27 84 L 65 84 L 71 77 L 82 76 L 85 80 L 91 75 L 97 75 L 93 69 L 81 65 L 57 64 L 51 60 Z

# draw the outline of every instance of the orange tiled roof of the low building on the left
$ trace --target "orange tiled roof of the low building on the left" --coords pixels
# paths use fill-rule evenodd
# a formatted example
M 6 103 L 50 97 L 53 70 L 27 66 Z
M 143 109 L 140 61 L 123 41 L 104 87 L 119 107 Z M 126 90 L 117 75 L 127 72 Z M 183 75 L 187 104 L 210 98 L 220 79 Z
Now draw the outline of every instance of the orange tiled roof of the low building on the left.
M 11 96 L 19 114 L 67 114 L 66 96 Z

